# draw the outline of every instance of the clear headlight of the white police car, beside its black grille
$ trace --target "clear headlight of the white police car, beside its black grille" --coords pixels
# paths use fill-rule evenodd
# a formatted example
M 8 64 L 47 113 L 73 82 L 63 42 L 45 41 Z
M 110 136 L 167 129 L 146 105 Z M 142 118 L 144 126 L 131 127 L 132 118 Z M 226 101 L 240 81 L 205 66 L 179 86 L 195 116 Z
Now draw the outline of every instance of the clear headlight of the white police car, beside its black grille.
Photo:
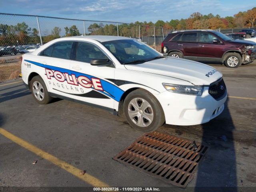
M 203 86 L 174 85 L 167 83 L 163 83 L 163 86 L 166 90 L 179 94 L 202 95 L 204 91 Z

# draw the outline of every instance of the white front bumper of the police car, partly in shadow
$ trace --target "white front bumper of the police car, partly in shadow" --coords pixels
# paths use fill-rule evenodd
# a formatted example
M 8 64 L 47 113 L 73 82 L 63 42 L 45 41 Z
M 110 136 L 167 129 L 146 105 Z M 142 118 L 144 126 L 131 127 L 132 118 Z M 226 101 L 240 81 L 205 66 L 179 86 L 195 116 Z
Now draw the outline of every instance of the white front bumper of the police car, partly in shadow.
M 221 100 L 215 100 L 204 87 L 202 96 L 162 92 L 156 95 L 160 102 L 166 124 L 196 125 L 215 118 L 224 110 L 227 93 Z

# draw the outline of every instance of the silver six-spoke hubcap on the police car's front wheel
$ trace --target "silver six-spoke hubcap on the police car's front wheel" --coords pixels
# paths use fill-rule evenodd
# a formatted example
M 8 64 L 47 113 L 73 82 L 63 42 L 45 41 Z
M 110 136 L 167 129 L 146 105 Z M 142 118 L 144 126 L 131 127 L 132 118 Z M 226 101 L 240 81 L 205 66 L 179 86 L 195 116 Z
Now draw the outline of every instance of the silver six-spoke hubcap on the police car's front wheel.
M 130 101 L 128 115 L 132 122 L 140 127 L 149 126 L 154 119 L 151 105 L 142 98 L 134 98 Z

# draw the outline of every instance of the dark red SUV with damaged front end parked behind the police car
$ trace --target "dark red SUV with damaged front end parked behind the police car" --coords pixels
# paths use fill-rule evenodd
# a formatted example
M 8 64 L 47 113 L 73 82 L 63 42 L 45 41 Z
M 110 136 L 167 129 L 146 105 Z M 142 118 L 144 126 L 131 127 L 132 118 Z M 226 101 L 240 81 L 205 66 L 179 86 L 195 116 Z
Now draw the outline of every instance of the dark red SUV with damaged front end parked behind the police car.
M 213 30 L 172 32 L 162 42 L 162 53 L 199 62 L 221 62 L 230 68 L 256 59 L 256 44 Z

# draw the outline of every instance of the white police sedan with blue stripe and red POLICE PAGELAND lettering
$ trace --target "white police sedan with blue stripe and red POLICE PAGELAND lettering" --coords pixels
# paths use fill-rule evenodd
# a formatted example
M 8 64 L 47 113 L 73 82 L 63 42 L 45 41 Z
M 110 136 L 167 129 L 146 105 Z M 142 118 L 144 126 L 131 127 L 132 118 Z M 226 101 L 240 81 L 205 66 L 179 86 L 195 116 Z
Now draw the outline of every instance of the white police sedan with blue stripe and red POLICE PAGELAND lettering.
M 227 98 L 216 69 L 116 36 L 52 40 L 24 54 L 22 79 L 40 104 L 58 97 L 124 112 L 133 128 L 145 132 L 164 122 L 208 122 L 224 110 Z

